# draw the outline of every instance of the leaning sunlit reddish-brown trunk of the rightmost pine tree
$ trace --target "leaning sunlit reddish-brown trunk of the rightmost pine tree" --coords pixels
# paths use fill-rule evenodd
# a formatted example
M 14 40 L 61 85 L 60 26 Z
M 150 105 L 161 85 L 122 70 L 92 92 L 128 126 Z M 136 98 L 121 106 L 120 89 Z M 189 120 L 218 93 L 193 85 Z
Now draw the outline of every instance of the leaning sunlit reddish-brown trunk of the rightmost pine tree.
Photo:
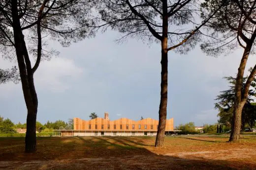
M 248 94 L 247 95 L 244 94 L 243 77 L 244 77 L 245 66 L 246 66 L 251 49 L 252 49 L 252 44 L 247 44 L 246 48 L 244 49 L 240 66 L 238 68 L 236 84 L 235 84 L 235 107 L 233 111 L 231 134 L 229 137 L 229 142 L 237 142 L 239 141 L 239 138 L 240 138 L 242 111 L 248 96 Z

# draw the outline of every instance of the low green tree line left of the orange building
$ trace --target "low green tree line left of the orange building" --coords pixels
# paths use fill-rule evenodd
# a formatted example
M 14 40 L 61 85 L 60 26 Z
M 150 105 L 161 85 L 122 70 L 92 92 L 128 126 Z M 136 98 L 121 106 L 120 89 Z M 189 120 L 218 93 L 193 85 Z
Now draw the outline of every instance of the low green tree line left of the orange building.
M 17 133 L 15 129 L 26 129 L 27 123 L 18 122 L 15 124 L 10 119 L 4 119 L 0 116 L 0 133 Z M 67 122 L 58 120 L 55 122 L 47 121 L 45 124 L 36 121 L 36 131 L 41 133 L 52 132 L 53 129 L 74 129 L 73 119 L 69 119 Z

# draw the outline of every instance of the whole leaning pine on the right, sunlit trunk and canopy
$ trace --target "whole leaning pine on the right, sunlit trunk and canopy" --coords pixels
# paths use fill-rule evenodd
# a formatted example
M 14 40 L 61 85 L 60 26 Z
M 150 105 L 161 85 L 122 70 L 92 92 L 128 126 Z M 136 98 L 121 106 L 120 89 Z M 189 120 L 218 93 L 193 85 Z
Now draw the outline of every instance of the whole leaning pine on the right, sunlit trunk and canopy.
M 205 0 L 202 4 L 203 13 L 209 13 L 209 9 L 218 8 L 221 0 Z M 243 77 L 247 60 L 251 52 L 255 52 L 256 39 L 256 1 L 255 0 L 225 0 L 224 6 L 209 21 L 209 28 L 213 33 L 212 39 L 201 47 L 208 53 L 216 55 L 221 52 L 229 52 L 243 48 L 241 62 L 238 68 L 235 84 L 235 103 L 232 118 L 232 130 L 229 141 L 236 142 L 240 138 L 242 110 L 247 101 L 251 83 L 256 75 L 256 65 L 246 79 L 243 87 Z M 202 15 L 203 18 L 207 18 Z M 210 31 L 210 30 L 209 30 Z

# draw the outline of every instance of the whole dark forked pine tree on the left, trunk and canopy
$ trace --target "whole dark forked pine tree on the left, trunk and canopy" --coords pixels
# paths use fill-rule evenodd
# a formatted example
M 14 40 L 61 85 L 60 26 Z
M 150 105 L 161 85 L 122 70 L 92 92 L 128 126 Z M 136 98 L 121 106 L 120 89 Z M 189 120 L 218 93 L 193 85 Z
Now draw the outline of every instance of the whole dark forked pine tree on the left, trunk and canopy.
M 42 58 L 54 51 L 47 50 L 47 40 L 58 39 L 69 45 L 87 35 L 86 15 L 90 5 L 85 0 L 1 0 L 0 43 L 5 57 L 16 56 L 25 103 L 28 110 L 26 152 L 36 147 L 35 123 L 38 99 L 34 86 L 34 73 Z M 80 27 L 80 29 L 78 29 Z M 43 38 L 48 38 L 42 41 Z M 34 48 L 35 47 L 35 48 Z M 15 52 L 13 52 L 14 50 Z M 31 59 L 35 58 L 32 66 Z

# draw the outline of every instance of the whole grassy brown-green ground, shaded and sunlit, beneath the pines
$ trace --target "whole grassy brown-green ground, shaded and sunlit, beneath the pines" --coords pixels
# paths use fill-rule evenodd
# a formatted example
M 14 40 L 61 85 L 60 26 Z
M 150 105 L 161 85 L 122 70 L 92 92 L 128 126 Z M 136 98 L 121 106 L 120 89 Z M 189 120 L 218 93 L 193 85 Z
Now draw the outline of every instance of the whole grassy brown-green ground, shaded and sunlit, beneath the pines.
M 38 137 L 24 153 L 22 137 L 0 138 L 0 169 L 256 169 L 256 135 L 166 137 Z

